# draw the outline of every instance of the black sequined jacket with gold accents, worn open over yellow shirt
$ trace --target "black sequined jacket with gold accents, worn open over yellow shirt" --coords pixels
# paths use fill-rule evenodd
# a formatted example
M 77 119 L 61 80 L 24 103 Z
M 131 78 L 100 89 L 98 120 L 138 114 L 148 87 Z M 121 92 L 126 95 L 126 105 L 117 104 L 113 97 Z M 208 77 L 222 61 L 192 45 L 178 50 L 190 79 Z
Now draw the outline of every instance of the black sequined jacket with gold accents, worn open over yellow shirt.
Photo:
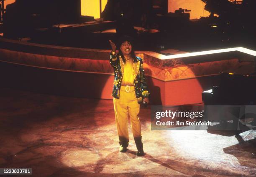
M 113 66 L 115 74 L 112 96 L 119 99 L 119 90 L 123 79 L 125 63 L 119 54 L 110 54 L 110 64 Z M 133 59 L 133 75 L 135 78 L 133 82 L 135 94 L 138 102 L 141 102 L 143 98 L 149 96 L 149 92 L 144 76 L 143 60 L 140 57 Z

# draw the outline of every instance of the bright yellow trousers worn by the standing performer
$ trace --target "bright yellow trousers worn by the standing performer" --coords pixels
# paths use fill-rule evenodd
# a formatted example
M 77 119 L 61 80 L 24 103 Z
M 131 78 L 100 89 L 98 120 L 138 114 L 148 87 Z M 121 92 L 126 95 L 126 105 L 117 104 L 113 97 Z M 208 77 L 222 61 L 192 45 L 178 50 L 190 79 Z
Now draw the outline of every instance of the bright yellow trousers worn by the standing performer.
M 119 144 L 127 147 L 129 144 L 128 116 L 131 120 L 134 139 L 141 138 L 141 122 L 138 118 L 140 104 L 138 104 L 134 87 L 121 86 L 120 98 L 114 98 L 113 101 Z

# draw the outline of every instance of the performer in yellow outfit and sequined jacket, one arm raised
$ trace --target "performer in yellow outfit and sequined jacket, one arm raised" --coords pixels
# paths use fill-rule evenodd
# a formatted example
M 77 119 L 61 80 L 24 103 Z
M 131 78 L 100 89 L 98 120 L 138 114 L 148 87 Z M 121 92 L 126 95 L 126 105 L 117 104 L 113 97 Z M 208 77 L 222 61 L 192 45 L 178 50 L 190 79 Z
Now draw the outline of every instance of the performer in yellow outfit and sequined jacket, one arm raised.
M 129 144 L 129 116 L 134 141 L 138 150 L 137 155 L 143 156 L 141 122 L 138 118 L 139 103 L 149 103 L 143 60 L 140 57 L 136 57 L 130 37 L 123 36 L 120 38 L 118 42 L 119 53 L 116 52 L 116 45 L 111 40 L 109 42 L 112 48 L 110 64 L 113 66 L 115 73 L 112 96 L 114 97 L 115 122 L 120 144 L 119 151 L 127 151 Z

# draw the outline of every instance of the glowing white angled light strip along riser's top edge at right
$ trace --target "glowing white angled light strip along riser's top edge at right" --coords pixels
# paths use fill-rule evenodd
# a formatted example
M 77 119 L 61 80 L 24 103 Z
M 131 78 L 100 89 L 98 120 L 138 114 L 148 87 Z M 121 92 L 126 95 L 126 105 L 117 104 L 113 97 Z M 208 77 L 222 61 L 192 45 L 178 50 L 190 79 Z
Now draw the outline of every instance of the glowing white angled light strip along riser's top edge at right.
M 239 51 L 239 52 L 246 53 L 248 55 L 256 56 L 256 51 L 254 50 L 250 50 L 244 47 L 234 47 L 234 48 L 227 48 L 227 49 L 208 50 L 208 51 L 202 51 L 202 52 L 191 52 L 191 53 L 183 53 L 183 54 L 177 54 L 177 55 L 162 56 L 161 60 L 182 58 L 182 57 L 193 57 L 193 56 L 209 55 L 209 54 L 233 52 L 233 51 Z

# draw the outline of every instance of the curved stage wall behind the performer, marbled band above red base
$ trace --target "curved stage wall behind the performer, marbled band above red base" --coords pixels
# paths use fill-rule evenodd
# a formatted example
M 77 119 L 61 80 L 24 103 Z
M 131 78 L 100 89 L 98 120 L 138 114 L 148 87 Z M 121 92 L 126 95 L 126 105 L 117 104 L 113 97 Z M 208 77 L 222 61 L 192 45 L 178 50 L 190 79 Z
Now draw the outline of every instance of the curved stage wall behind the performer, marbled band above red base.
M 112 99 L 110 50 L 80 49 L 0 38 L 2 86 L 34 92 Z M 143 58 L 151 104 L 185 105 L 202 102 L 201 93 L 218 85 L 219 72 L 254 72 L 255 56 L 232 50 L 171 59 L 155 52 Z M 179 56 L 179 55 L 177 55 Z

